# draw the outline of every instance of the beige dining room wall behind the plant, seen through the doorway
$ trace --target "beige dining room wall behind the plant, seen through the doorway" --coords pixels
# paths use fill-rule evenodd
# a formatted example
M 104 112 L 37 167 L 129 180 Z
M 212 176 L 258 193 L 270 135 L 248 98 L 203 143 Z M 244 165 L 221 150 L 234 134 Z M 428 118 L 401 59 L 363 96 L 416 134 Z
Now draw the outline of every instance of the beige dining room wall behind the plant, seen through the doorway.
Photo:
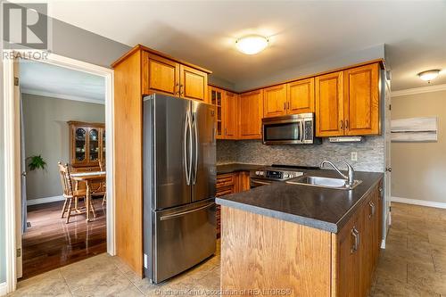
M 67 121 L 105 122 L 105 105 L 23 94 L 26 157 L 41 154 L 47 167 L 28 171 L 27 197 L 62 194 L 57 162 L 69 162 Z

